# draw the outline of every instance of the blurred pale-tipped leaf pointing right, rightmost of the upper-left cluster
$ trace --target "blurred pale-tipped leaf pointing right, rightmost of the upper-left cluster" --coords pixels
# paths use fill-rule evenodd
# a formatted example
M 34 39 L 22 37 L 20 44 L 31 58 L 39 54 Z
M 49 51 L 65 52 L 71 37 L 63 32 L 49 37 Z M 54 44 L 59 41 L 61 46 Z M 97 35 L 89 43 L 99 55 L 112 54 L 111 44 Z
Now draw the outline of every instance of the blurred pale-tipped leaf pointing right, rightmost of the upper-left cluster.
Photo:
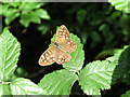
M 37 16 L 39 16 L 39 17 L 41 17 L 43 19 L 48 19 L 48 20 L 51 19 L 48 12 L 46 10 L 43 10 L 43 9 L 38 9 L 38 10 L 35 11 L 35 13 L 36 13 Z

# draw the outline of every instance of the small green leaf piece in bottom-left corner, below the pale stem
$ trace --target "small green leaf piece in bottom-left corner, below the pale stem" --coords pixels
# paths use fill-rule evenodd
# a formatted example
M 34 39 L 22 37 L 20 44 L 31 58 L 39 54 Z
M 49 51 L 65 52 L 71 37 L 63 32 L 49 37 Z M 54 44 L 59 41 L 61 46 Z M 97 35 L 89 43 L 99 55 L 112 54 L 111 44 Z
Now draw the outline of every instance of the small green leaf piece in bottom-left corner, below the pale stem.
M 1 84 L 0 83 L 0 96 L 2 97 L 2 95 L 11 95 L 11 91 L 10 91 L 10 85 L 9 84 Z

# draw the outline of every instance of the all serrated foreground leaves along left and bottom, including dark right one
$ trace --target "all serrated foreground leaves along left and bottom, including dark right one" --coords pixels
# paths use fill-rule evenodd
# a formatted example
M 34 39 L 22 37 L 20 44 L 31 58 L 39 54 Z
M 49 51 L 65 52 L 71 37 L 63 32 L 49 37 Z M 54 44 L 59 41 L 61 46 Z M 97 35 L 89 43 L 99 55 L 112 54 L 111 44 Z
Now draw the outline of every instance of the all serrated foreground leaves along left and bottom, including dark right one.
M 125 46 L 106 60 L 95 60 L 82 68 L 83 45 L 73 33 L 70 39 L 77 43 L 77 50 L 70 54 L 72 60 L 63 65 L 64 69 L 46 74 L 37 85 L 30 80 L 12 77 L 17 67 L 21 44 L 4 28 L 0 36 L 0 95 L 69 95 L 76 81 L 87 95 L 101 95 L 101 89 L 109 89 L 118 79 L 130 84 L 130 46 Z

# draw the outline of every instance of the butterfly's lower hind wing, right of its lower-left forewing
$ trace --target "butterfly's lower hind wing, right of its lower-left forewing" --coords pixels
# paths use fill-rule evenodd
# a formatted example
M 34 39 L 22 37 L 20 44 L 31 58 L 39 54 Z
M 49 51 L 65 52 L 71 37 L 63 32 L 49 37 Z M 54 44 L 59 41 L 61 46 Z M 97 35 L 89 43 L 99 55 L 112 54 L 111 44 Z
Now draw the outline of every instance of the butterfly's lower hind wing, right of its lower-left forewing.
M 70 55 L 65 53 L 64 51 L 56 48 L 56 63 L 58 65 L 68 63 L 70 60 Z

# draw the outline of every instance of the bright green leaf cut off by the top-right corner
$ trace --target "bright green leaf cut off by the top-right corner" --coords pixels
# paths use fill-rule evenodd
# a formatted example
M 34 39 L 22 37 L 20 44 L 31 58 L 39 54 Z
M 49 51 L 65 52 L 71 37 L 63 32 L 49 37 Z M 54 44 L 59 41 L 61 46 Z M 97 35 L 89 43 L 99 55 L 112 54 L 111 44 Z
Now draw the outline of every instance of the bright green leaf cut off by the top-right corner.
M 115 6 L 116 10 L 123 11 L 126 13 L 130 13 L 130 0 L 108 0 L 108 2 Z

